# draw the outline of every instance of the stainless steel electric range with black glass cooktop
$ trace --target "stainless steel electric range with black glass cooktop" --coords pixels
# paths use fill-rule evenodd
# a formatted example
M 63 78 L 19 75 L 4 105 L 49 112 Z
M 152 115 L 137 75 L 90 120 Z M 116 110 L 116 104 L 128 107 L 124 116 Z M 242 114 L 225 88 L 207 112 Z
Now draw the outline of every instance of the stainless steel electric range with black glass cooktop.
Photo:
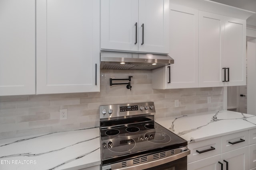
M 154 102 L 100 106 L 102 170 L 187 169 L 187 141 L 154 114 Z

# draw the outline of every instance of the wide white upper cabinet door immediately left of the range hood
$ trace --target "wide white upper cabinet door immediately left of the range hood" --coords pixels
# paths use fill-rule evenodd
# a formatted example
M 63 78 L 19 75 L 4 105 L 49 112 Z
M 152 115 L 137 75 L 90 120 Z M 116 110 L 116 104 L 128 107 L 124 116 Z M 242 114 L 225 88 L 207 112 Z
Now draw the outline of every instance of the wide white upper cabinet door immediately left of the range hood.
M 100 0 L 38 0 L 37 94 L 100 90 Z

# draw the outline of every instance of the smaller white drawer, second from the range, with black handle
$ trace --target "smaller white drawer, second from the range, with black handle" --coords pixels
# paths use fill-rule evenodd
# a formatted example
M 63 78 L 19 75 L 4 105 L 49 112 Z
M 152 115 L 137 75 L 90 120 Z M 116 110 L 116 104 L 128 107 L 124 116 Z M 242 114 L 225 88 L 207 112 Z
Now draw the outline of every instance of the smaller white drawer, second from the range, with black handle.
M 248 131 L 222 136 L 222 153 L 249 145 Z

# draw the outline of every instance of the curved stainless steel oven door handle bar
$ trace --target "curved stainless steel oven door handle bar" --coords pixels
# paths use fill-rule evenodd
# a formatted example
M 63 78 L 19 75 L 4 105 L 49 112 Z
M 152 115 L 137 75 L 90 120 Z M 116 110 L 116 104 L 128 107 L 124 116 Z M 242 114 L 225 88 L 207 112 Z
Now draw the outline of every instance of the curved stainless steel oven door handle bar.
M 190 154 L 189 149 L 187 149 L 186 151 L 180 152 L 178 154 L 168 156 L 166 158 L 157 159 L 157 160 L 153 160 L 153 161 L 150 161 L 150 162 L 145 162 L 145 163 L 142 163 L 142 164 L 136 164 L 134 166 L 127 166 L 127 167 L 124 167 L 124 168 L 120 168 L 118 163 L 116 163 L 116 164 L 111 165 L 111 170 L 142 170 L 142 169 L 152 168 L 152 167 L 155 167 L 155 166 L 158 166 L 158 165 L 166 164 L 168 162 L 172 162 L 174 160 L 183 158 L 183 157 L 187 156 L 188 154 Z

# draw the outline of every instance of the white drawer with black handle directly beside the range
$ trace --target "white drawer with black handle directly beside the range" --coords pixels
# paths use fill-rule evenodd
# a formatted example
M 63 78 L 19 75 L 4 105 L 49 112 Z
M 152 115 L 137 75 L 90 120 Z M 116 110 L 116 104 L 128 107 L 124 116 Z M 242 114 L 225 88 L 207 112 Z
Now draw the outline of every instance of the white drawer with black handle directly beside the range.
M 221 137 L 189 143 L 188 148 L 190 149 L 188 163 L 208 158 L 221 153 Z

